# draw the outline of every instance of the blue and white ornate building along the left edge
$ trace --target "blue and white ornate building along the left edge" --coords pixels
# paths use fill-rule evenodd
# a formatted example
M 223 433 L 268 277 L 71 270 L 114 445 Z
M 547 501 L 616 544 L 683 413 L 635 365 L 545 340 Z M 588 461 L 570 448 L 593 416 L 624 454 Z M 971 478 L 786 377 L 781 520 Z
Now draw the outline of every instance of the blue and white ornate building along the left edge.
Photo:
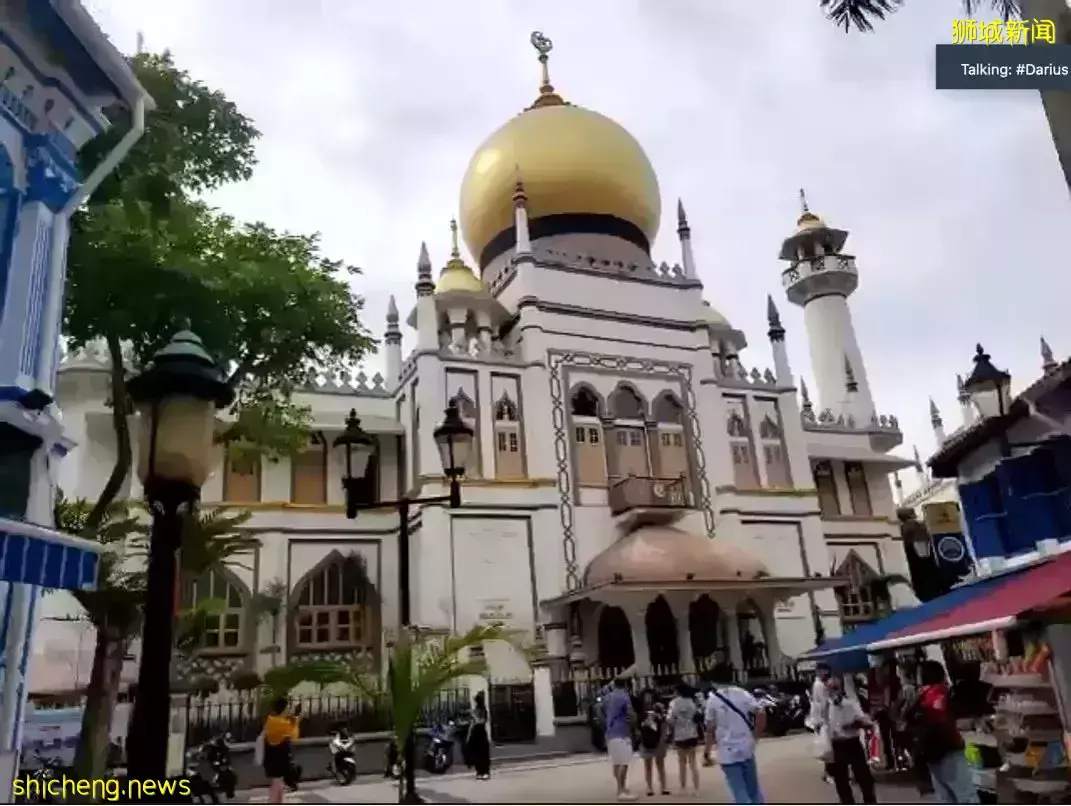
M 71 447 L 52 402 L 71 215 L 151 104 L 78 0 L 0 4 L 0 796 L 18 763 L 42 589 L 96 582 L 96 545 L 52 529 L 55 467 Z M 110 121 L 129 132 L 82 177 L 78 152 Z

